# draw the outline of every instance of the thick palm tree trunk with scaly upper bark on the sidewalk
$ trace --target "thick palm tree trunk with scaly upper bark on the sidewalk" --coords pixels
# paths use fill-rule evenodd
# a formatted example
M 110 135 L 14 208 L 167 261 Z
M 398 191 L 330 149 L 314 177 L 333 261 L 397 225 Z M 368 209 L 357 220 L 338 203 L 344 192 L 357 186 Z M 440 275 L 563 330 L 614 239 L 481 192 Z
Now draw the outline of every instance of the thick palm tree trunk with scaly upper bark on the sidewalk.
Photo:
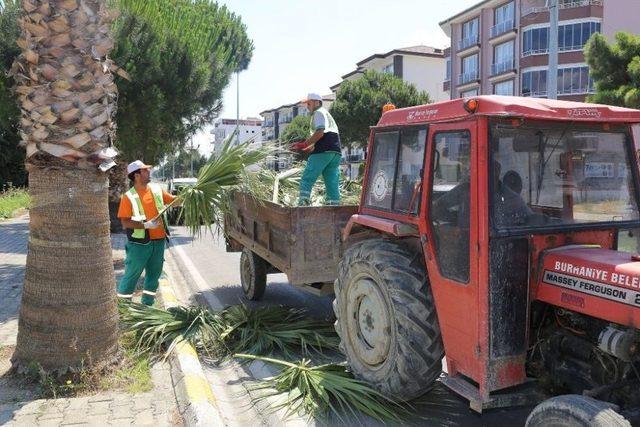
M 27 149 L 29 251 L 12 362 L 47 370 L 117 355 L 108 179 L 116 86 L 105 0 L 22 0 L 12 68 Z

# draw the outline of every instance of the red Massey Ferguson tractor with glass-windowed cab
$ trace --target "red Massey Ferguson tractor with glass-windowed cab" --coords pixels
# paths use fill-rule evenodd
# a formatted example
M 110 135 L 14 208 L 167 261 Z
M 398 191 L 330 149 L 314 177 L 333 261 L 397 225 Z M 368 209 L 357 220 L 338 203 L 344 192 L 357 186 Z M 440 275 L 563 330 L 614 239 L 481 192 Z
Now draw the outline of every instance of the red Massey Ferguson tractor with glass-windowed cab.
M 385 112 L 336 281 L 336 301 L 354 301 L 337 315 L 356 374 L 410 398 L 444 352 L 443 382 L 477 411 L 539 400 L 532 383 L 640 407 L 638 123 L 636 110 L 501 96 Z M 383 283 L 379 265 L 350 275 L 371 233 L 419 254 L 404 285 Z M 357 321 L 378 306 L 367 325 L 389 337 Z

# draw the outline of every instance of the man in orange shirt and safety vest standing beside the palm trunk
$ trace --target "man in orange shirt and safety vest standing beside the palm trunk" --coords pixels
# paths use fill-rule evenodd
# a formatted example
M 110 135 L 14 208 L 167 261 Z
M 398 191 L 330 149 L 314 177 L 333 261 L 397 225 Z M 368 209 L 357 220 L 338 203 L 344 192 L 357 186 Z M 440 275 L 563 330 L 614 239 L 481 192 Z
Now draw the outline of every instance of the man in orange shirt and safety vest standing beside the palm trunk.
M 166 222 L 157 218 L 165 204 L 176 197 L 157 184 L 151 184 L 151 167 L 140 160 L 127 166 L 131 188 L 122 196 L 118 218 L 127 231 L 124 277 L 118 285 L 118 297 L 131 299 L 138 279 L 145 271 L 142 303 L 152 305 L 164 264 Z M 176 202 L 177 204 L 178 202 Z

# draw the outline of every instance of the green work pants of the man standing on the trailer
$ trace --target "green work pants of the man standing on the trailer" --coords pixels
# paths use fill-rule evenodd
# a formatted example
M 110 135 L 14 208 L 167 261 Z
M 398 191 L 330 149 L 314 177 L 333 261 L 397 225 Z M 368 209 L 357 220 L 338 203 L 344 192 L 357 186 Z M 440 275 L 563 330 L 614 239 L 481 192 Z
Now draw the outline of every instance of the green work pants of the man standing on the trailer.
M 337 205 L 340 203 L 340 153 L 327 151 L 324 153 L 312 154 L 307 160 L 307 167 L 302 173 L 300 180 L 299 206 L 309 205 L 311 202 L 311 190 L 313 184 L 320 175 L 324 180 L 327 189 L 325 203 L 327 205 Z

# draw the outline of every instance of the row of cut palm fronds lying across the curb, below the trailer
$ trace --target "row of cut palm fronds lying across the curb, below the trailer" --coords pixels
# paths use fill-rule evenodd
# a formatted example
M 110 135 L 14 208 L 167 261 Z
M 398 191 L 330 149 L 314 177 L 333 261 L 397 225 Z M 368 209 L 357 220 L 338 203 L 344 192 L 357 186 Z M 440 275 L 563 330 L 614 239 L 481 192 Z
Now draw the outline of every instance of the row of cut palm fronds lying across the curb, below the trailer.
M 126 330 L 136 333 L 143 352 L 169 354 L 183 340 L 218 359 L 236 352 L 324 354 L 337 351 L 339 344 L 330 322 L 279 306 L 234 305 L 213 313 L 204 307 L 163 310 L 127 302 L 120 304 L 120 318 Z

